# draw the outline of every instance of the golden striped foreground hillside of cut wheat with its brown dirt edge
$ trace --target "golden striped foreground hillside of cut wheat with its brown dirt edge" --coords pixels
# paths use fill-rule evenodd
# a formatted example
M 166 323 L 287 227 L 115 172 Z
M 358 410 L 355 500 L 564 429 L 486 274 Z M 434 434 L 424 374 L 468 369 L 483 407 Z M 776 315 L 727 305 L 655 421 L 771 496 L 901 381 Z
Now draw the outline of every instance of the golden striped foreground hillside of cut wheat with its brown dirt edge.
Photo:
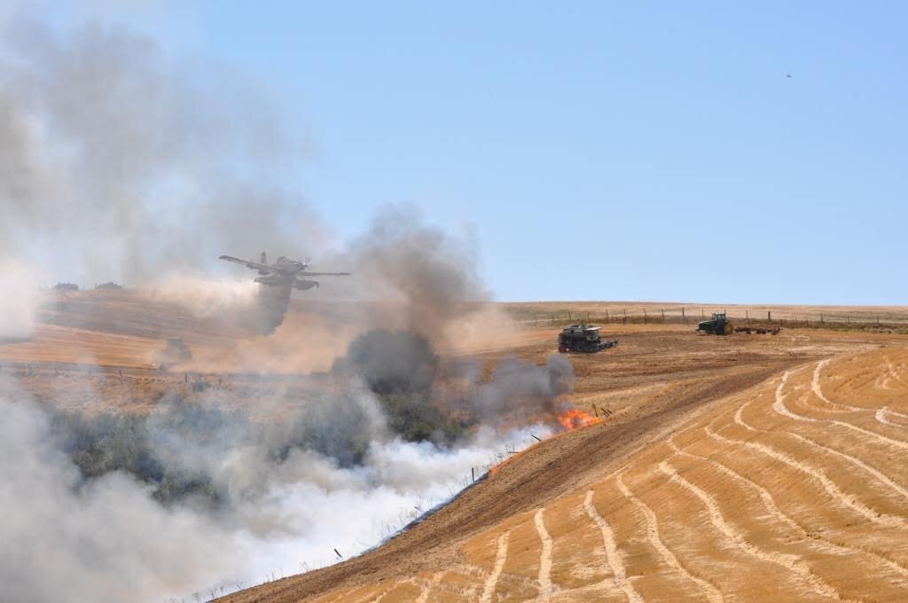
M 543 442 L 360 559 L 224 600 L 908 598 L 908 348 L 751 379 Z

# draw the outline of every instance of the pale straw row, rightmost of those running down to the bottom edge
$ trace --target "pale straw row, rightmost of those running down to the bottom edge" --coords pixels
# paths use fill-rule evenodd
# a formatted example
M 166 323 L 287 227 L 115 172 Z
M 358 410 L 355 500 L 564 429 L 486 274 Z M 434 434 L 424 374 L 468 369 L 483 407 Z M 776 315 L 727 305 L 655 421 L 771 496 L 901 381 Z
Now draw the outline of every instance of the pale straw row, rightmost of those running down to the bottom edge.
M 716 499 L 711 497 L 706 490 L 700 488 L 695 483 L 689 481 L 688 479 L 683 478 L 677 470 L 672 467 L 668 461 L 663 460 L 659 463 L 659 470 L 665 473 L 669 479 L 681 485 L 685 489 L 690 490 L 696 498 L 700 499 L 704 505 L 706 505 L 706 512 L 709 514 L 710 522 L 713 524 L 716 529 L 718 529 L 725 536 L 726 539 L 735 542 L 735 544 L 740 548 L 744 549 L 746 552 L 750 553 L 757 559 L 763 559 L 766 562 L 774 563 L 775 565 L 787 568 L 790 571 L 795 572 L 801 578 L 803 578 L 812 588 L 814 588 L 814 593 L 817 595 L 822 595 L 824 597 L 835 598 L 837 600 L 850 600 L 843 599 L 839 596 L 838 591 L 826 582 L 823 578 L 816 576 L 811 572 L 810 567 L 798 555 L 793 555 L 790 553 L 780 553 L 780 552 L 767 552 L 764 549 L 760 549 L 753 542 L 750 542 L 745 538 L 744 534 L 735 527 L 734 524 L 730 523 L 725 519 L 725 516 L 722 514 L 722 509 L 719 509 Z

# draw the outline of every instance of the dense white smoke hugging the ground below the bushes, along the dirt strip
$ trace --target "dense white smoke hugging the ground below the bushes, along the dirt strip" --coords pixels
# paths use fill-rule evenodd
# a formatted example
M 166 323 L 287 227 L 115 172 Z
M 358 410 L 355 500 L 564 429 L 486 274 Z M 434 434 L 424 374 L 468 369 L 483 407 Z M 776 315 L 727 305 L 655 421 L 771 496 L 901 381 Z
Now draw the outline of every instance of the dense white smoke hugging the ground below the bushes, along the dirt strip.
M 530 441 L 528 430 L 479 430 L 451 450 L 374 441 L 351 467 L 295 450 L 257 495 L 212 513 L 164 507 L 120 472 L 85 480 L 54 445 L 44 411 L 13 395 L 0 397 L 0 578 L 5 599 L 35 603 L 207 599 L 318 568 L 338 560 L 334 549 L 350 557 L 379 544 L 467 485 L 470 468 Z M 259 462 L 250 450 L 233 454 L 234 465 Z

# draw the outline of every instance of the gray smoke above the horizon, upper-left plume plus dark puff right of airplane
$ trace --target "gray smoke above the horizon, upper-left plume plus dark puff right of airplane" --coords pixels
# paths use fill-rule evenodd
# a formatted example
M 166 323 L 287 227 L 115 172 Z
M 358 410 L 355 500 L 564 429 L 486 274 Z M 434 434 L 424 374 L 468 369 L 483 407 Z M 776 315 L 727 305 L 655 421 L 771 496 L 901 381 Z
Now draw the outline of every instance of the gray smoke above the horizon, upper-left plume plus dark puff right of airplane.
M 314 299 L 382 301 L 380 326 L 433 340 L 488 299 L 476 243 L 412 205 L 381 208 L 367 232 L 332 244 L 286 185 L 304 149 L 252 82 L 173 64 L 152 41 L 103 25 L 60 32 L 20 20 L 6 39 L 0 258 L 61 281 L 160 287 L 162 274 L 216 266 L 224 253 L 312 255 L 318 270 L 355 272 Z M 268 333 L 286 297 L 260 289 L 247 322 Z

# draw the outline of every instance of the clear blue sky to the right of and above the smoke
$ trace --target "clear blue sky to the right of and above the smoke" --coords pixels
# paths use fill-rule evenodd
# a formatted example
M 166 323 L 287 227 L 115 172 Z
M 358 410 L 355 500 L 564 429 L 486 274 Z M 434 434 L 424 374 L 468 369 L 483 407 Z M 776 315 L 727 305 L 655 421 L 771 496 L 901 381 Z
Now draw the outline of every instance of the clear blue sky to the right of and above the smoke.
M 48 13 L 250 74 L 341 239 L 410 201 L 499 300 L 908 303 L 908 3 L 187 4 Z

